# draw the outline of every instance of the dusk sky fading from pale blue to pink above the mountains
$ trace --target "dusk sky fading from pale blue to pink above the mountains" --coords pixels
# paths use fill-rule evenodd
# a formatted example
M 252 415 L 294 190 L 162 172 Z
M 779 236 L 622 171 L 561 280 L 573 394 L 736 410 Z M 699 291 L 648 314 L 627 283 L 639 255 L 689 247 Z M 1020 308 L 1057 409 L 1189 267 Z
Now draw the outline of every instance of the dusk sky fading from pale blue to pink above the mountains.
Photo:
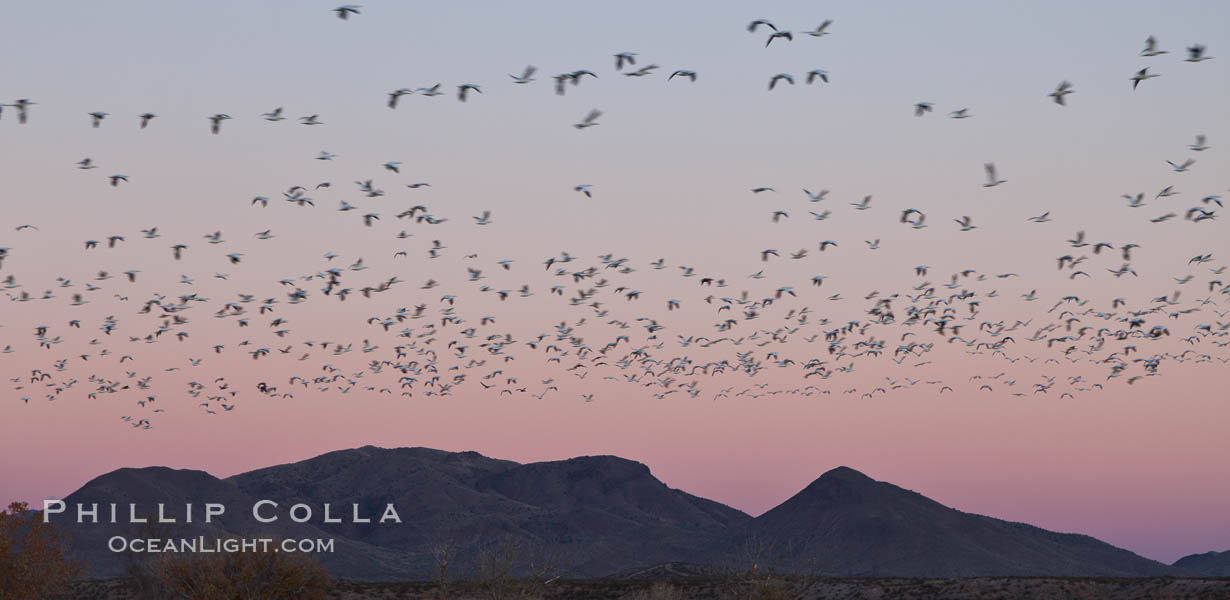
M 25 125 L 14 108 L 0 112 L 0 247 L 9 248 L 0 279 L 14 275 L 21 285 L 7 293 L 38 298 L 52 290 L 54 298 L 0 309 L 0 348 L 14 350 L 0 354 L 6 384 L 0 499 L 63 497 L 121 466 L 229 476 L 374 444 L 477 450 L 518 461 L 615 454 L 649 465 L 672 487 L 753 515 L 845 465 L 961 510 L 1093 535 L 1165 562 L 1230 548 L 1224 510 L 1230 480 L 1219 476 L 1230 468 L 1224 430 L 1230 393 L 1218 360 L 1230 354 L 1215 345 L 1223 338 L 1212 336 L 1225 322 L 1213 311 L 1224 310 L 1228 299 L 1209 286 L 1219 279 L 1209 270 L 1224 264 L 1230 236 L 1220 220 L 1182 218 L 1189 207 L 1213 208 L 1200 198 L 1230 187 L 1223 175 L 1223 140 L 1230 140 L 1224 111 L 1230 76 L 1220 58 L 1230 21 L 1225 2 L 371 1 L 348 21 L 330 12 L 335 6 L 70 1 L 7 9 L 0 22 L 0 102 L 37 105 Z M 766 48 L 764 31 L 747 31 L 754 18 L 792 30 L 795 39 Z M 833 20 L 830 34 L 802 34 L 824 20 Z M 1149 36 L 1168 54 L 1140 57 Z M 1214 59 L 1184 63 L 1183 48 L 1196 43 L 1207 44 Z M 637 66 L 659 69 L 624 76 L 615 70 L 617 52 L 635 52 Z M 528 64 L 539 68 L 538 80 L 513 84 L 509 74 Z M 1133 91 L 1129 77 L 1145 66 L 1160 76 Z M 577 69 L 598 76 L 555 95 L 551 76 Z M 667 81 L 676 69 L 695 70 L 696 81 Z M 828 71 L 829 82 L 804 84 L 812 69 Z M 779 73 L 792 74 L 796 84 L 768 90 Z M 1065 107 L 1047 97 L 1063 80 L 1075 90 Z M 416 93 L 396 109 L 385 106 L 390 91 L 437 82 L 445 95 Z M 481 92 L 459 102 L 454 92 L 461 84 Z M 914 117 L 916 102 L 932 102 L 934 113 Z M 284 107 L 287 120 L 261 118 L 276 107 Z M 594 108 L 604 113 L 598 127 L 571 127 Z M 948 117 L 959 108 L 972 117 Z M 98 128 L 90 127 L 93 111 L 109 113 Z M 137 116 L 144 112 L 157 117 L 139 129 Z M 232 119 L 212 135 L 208 117 L 215 113 Z M 310 114 L 323 124 L 296 123 Z M 1208 136 L 1209 150 L 1188 149 L 1197 134 Z M 316 160 L 321 151 L 336 157 Z M 84 157 L 98 168 L 75 168 Z M 1188 157 L 1197 159 L 1188 172 L 1166 165 Z M 400 161 L 401 172 L 383 168 L 386 161 Z M 984 188 L 985 162 L 994 162 L 1006 183 Z M 112 187 L 107 177 L 114 173 L 129 181 Z M 386 195 L 365 198 L 352 183 L 369 178 Z M 317 189 L 321 182 L 330 186 Z M 405 187 L 413 182 L 430 187 Z M 573 189 L 582 183 L 593 186 L 593 198 Z M 315 207 L 282 200 L 296 184 L 309 188 Z M 750 192 L 761 186 L 774 191 Z M 1178 194 L 1154 199 L 1166 186 Z M 804 188 L 829 193 L 811 203 Z M 1145 194 L 1146 207 L 1129 208 L 1122 198 L 1137 193 Z M 269 207 L 252 207 L 256 195 L 271 198 Z M 870 210 L 850 207 L 865 195 L 872 197 Z M 360 208 L 338 211 L 343 200 Z M 415 204 L 448 221 L 394 218 Z M 922 210 L 927 227 L 900 224 L 907 208 Z M 475 225 L 472 216 L 485 210 L 492 224 Z M 772 223 L 775 210 L 788 218 Z M 823 221 L 808 214 L 823 210 L 831 211 Z M 1028 220 L 1047 211 L 1049 223 Z M 1178 216 L 1150 223 L 1171 211 Z M 380 221 L 365 226 L 367 213 Z M 952 220 L 967 215 L 978 229 L 962 232 Z M 26 224 L 38 229 L 16 230 Z M 160 237 L 143 239 L 140 231 L 155 226 Z M 253 237 L 264 230 L 274 239 Z M 400 230 L 411 236 L 397 239 Z M 225 242 L 203 239 L 214 231 Z M 1066 240 L 1077 231 L 1116 248 L 1138 243 L 1129 261 L 1138 277 L 1107 272 L 1124 263 L 1118 250 L 1092 255 L 1090 247 L 1070 247 Z M 86 240 L 106 246 L 111 235 L 125 241 L 111 250 L 82 247 Z M 434 240 L 446 248 L 428 258 Z M 839 245 L 822 253 L 823 240 Z M 868 248 L 866 241 L 875 240 L 879 248 Z M 171 258 L 173 243 L 188 246 L 183 259 Z M 761 261 L 769 248 L 780 256 Z M 798 248 L 811 255 L 788 258 Z M 326 252 L 337 258 L 326 259 Z M 569 269 L 601 267 L 598 257 L 606 253 L 626 257 L 635 273 L 601 269 L 600 277 L 641 290 L 641 300 L 604 298 L 605 317 L 569 305 L 577 285 L 542 268 L 561 252 L 577 257 Z M 241 253 L 241 263 L 230 264 L 229 253 Z M 1090 277 L 1073 279 L 1074 269 L 1055 269 L 1055 258 L 1068 253 L 1089 256 L 1080 268 Z M 1189 263 L 1202 255 L 1213 261 Z M 358 258 L 368 268 L 347 269 Z M 658 258 L 665 269 L 649 266 Z M 502 269 L 499 259 L 514 261 L 512 269 Z M 916 266 L 927 266 L 927 275 L 916 277 Z M 331 267 L 346 269 L 344 285 L 355 290 L 392 275 L 405 283 L 344 302 L 322 296 L 321 280 L 299 283 L 312 298 L 285 304 L 290 288 L 279 280 Z M 481 268 L 482 282 L 467 282 L 466 267 Z M 726 278 L 729 286 L 702 289 L 680 267 Z M 129 269 L 139 270 L 134 284 L 123 279 Z M 898 365 L 887 355 L 830 359 L 819 344 L 800 339 L 866 320 L 872 302 L 863 296 L 872 290 L 914 294 L 930 280 L 942 296 L 948 290 L 940 284 L 963 269 L 986 274 L 983 282 L 963 278 L 963 288 L 994 294 L 964 338 L 986 341 L 970 331 L 984 320 L 1030 321 L 1006 352 L 1036 363 L 970 354 L 930 331 L 916 338 L 936 342 L 922 366 L 913 359 Z M 100 270 L 112 278 L 95 279 Z M 748 277 L 756 272 L 765 278 Z M 1015 275 L 995 277 L 1009 273 Z M 1180 283 L 1188 274 L 1193 279 Z M 825 277 L 822 286 L 811 285 L 813 275 Z M 192 283 L 181 283 L 184 277 Z M 422 289 L 427 279 L 439 288 Z M 98 289 L 87 291 L 87 282 Z M 499 301 L 477 288 L 515 296 L 522 284 L 534 295 Z M 554 284 L 566 294 L 552 295 Z M 808 306 L 812 321 L 781 344 L 781 355 L 800 361 L 820 355 L 834 368 L 857 369 L 825 381 L 802 379 L 797 366 L 750 377 L 680 376 L 701 379 L 704 391 L 658 398 L 663 390 L 620 381 L 613 366 L 588 369 L 592 375 L 581 380 L 566 370 L 571 357 L 545 363 L 541 352 L 522 343 L 554 334 L 567 321 L 590 345 L 626 333 L 637 339 L 632 345 L 665 342 L 657 350 L 663 360 L 733 359 L 736 350 L 753 350 L 771 363 L 770 349 L 750 344 L 680 348 L 676 339 L 721 334 L 715 322 L 729 314 L 715 317 L 707 295 L 750 290 L 761 298 L 781 285 L 797 296 L 765 307 L 763 323 L 742 323 L 742 334 L 779 327 L 787 323 L 786 310 Z M 1039 300 L 1021 298 L 1031 290 Z M 1140 353 L 1130 358 L 1192 349 L 1207 360 L 1166 360 L 1159 376 L 1128 385 L 1127 377 L 1107 380 L 1107 364 L 1068 363 L 1066 344 L 1025 343 L 1043 323 L 1064 328 L 1057 317 L 1064 307 L 1048 312 L 1064 296 L 1102 311 L 1124 298 L 1129 306 L 1122 314 L 1176 290 L 1182 302 L 1175 310 L 1199 310 L 1148 317 L 1149 327 L 1165 325 L 1172 334 L 1129 342 Z M 71 306 L 75 293 L 89 302 Z M 161 322 L 139 315 L 141 302 L 154 294 L 193 293 L 208 301 L 183 315 L 188 326 L 171 328 L 188 331 L 188 339 L 141 341 Z M 272 316 L 248 306 L 247 328 L 213 316 L 240 293 L 280 304 Z M 829 300 L 838 293 L 841 300 Z M 261 381 L 285 391 L 290 376 L 319 376 L 323 363 L 357 373 L 371 359 L 391 358 L 400 342 L 368 318 L 419 304 L 438 316 L 448 306 L 444 294 L 456 296 L 455 310 L 467 320 L 456 328 L 493 316 L 482 332 L 518 339 L 510 350 L 517 360 L 503 365 L 517 371 L 518 385 L 538 393 L 547 386 L 540 381 L 554 379 L 560 390 L 541 398 L 497 395 L 475 385 L 492 370 L 488 364 L 470 369 L 471 380 L 449 396 L 364 392 L 362 379 L 349 393 L 315 386 L 300 386 L 293 398 L 256 392 Z M 670 299 L 680 300 L 680 310 L 667 310 Z M 1202 299 L 1210 304 L 1198 304 Z M 742 309 L 731 312 L 737 317 Z M 109 337 L 98 331 L 107 316 L 118 321 Z M 274 316 L 289 321 L 288 337 L 271 336 Z M 647 339 L 638 317 L 667 328 Z M 577 326 L 581 318 L 589 322 Z M 829 325 L 817 323 L 820 318 Z M 609 320 L 631 326 L 616 331 Z M 1204 323 L 1212 325 L 1209 337 L 1194 330 Z M 33 336 L 41 325 L 60 343 L 41 348 Z M 881 334 L 886 354 L 900 341 L 886 336 L 902 331 Z M 1193 342 L 1183 341 L 1193 334 Z M 252 342 L 245 349 L 268 347 L 272 354 L 252 359 L 237 345 L 242 339 Z M 326 339 L 355 350 L 335 358 L 304 345 Z M 365 339 L 381 348 L 360 352 Z M 481 359 L 482 339 L 464 343 L 471 354 L 458 359 L 442 349 L 442 366 Z M 215 344 L 225 352 L 214 353 Z M 277 352 L 292 344 L 299 348 Z M 102 348 L 109 353 L 100 354 Z M 295 360 L 309 350 L 310 360 Z M 123 355 L 133 358 L 121 363 Z M 64 370 L 55 370 L 62 359 Z M 49 371 L 53 384 L 77 382 L 47 400 L 46 381 L 30 382 L 34 369 Z M 1139 374 L 1139 365 L 1130 369 Z M 96 387 L 91 375 L 153 382 L 149 390 L 89 397 Z M 994 381 L 994 390 L 980 390 L 973 376 Z M 216 391 L 216 377 L 242 391 L 232 398 L 234 411 L 214 403 L 218 414 L 207 413 L 202 398 L 186 393 L 188 381 Z M 1060 384 L 1033 393 L 1043 377 Z M 1081 379 L 1069 384 L 1070 377 Z M 369 379 L 396 387 L 387 374 Z M 920 382 L 872 392 L 893 387 L 889 380 Z M 1002 384 L 1009 380 L 1025 396 L 1010 393 Z M 953 391 L 938 393 L 940 385 L 925 381 L 943 381 Z M 1093 382 L 1103 389 L 1090 389 Z M 804 395 L 807 385 L 830 393 Z M 732 392 L 718 396 L 727 387 Z M 737 396 L 744 389 L 752 391 Z M 851 389 L 857 391 L 845 393 Z M 1061 391 L 1073 393 L 1060 397 Z M 165 412 L 135 403 L 150 395 Z M 153 427 L 134 429 L 123 416 L 150 419 Z

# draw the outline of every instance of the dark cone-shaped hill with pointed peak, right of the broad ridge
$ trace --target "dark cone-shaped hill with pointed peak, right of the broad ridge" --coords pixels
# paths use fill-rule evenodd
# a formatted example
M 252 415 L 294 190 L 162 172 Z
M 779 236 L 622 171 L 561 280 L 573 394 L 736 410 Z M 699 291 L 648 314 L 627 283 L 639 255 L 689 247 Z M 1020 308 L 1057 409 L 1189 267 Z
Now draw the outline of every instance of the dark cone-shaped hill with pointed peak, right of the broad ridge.
M 784 541 L 776 551 L 786 562 L 859 577 L 1175 573 L 1090 536 L 962 513 L 847 467 L 760 515 L 749 532 Z

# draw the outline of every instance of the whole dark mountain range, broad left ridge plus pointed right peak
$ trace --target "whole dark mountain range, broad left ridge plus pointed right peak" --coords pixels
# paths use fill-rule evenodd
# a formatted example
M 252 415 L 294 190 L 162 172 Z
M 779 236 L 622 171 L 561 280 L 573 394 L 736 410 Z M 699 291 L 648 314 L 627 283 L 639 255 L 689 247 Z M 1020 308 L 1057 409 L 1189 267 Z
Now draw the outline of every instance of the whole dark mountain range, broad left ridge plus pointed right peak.
M 276 523 L 252 519 L 251 507 L 260 499 L 279 504 Z M 70 510 L 76 503 L 98 503 L 101 513 L 118 503 L 124 515 L 128 503 L 145 510 L 165 503 L 169 514 L 187 503 L 198 505 L 192 524 L 69 525 L 74 551 L 92 577 L 122 574 L 125 558 L 107 550 L 113 535 L 333 539 L 335 551 L 319 556 L 335 577 L 368 580 L 428 579 L 432 548 L 440 546 L 455 548 L 453 564 L 464 572 L 482 548 L 502 539 L 518 545 L 523 567 L 530 559 L 550 561 L 568 577 L 700 574 L 749 559 L 876 577 L 1194 570 L 1084 535 L 961 513 L 846 467 L 824 473 L 756 519 L 673 489 L 647 466 L 616 456 L 522 465 L 426 448 L 341 450 L 226 480 L 202 471 L 121 468 L 90 481 L 65 502 Z M 225 503 L 228 513 L 203 524 L 204 502 Z M 317 516 L 292 523 L 287 509 L 295 503 L 312 507 Z M 321 523 L 325 503 L 335 516 L 344 515 L 343 523 Z M 375 521 L 387 503 L 396 507 L 401 524 L 349 523 L 352 504 Z M 60 516 L 53 523 L 71 520 Z

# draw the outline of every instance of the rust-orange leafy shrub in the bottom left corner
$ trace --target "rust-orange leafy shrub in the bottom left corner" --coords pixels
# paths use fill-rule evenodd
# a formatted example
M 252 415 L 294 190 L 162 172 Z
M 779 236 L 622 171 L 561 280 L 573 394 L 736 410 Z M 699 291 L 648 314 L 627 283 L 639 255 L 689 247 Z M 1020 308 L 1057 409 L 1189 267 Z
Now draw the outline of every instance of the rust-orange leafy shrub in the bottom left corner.
M 66 590 L 81 573 L 68 541 L 26 503 L 0 510 L 0 600 L 39 600 Z

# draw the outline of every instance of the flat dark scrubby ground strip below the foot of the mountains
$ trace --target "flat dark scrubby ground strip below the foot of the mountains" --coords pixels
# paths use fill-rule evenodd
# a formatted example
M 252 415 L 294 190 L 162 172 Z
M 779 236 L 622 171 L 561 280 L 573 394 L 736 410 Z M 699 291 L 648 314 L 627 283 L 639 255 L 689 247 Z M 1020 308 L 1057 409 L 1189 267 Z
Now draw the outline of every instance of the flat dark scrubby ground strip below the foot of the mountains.
M 70 598 L 134 600 L 122 580 L 81 582 Z M 610 599 L 610 600 L 964 600 L 964 599 L 1097 599 L 1167 600 L 1230 599 L 1230 578 L 1109 579 L 1011 578 L 968 579 L 761 579 L 761 580 L 554 580 L 491 583 L 459 582 L 440 594 L 430 583 L 335 582 L 336 600 L 467 599 Z

